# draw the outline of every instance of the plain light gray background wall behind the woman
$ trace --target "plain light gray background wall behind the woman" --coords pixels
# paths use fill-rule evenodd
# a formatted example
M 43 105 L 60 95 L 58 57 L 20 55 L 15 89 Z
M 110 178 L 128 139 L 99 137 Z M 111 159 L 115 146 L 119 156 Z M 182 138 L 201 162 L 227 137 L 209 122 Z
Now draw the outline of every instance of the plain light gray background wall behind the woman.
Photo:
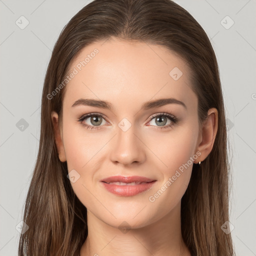
M 18 223 L 38 150 L 41 91 L 51 50 L 63 26 L 88 2 L 0 0 L 1 256 L 17 255 Z M 256 1 L 175 2 L 204 28 L 217 56 L 231 147 L 231 234 L 237 255 L 256 255 Z M 23 29 L 22 15 L 29 22 Z

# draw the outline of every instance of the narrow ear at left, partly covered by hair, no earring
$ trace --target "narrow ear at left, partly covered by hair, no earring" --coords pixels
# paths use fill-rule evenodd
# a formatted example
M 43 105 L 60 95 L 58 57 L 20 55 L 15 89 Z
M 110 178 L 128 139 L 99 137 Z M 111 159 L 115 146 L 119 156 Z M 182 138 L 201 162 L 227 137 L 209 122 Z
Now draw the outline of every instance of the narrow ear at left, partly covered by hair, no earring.
M 62 130 L 58 127 L 58 114 L 55 111 L 51 112 L 51 120 L 54 126 L 54 140 L 58 149 L 58 158 L 61 162 L 66 161 L 66 155 L 62 139 Z

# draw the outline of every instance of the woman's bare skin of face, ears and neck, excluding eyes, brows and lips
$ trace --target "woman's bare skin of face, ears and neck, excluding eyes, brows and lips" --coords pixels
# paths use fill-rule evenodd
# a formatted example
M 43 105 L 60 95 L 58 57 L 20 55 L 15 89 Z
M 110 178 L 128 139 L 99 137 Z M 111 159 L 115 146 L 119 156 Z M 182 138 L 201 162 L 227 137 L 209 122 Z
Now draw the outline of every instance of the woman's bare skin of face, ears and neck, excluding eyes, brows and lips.
M 55 142 L 60 161 L 67 161 L 68 172 L 80 177 L 71 182 L 79 200 L 87 208 L 88 236 L 80 255 L 190 255 L 181 236 L 180 203 L 189 183 L 192 164 L 163 193 L 150 202 L 179 166 L 200 152 L 194 163 L 203 161 L 212 149 L 217 131 L 217 110 L 208 110 L 202 127 L 197 116 L 197 96 L 191 89 L 191 71 L 186 61 L 161 45 L 119 39 L 95 42 L 82 49 L 71 62 L 79 61 L 97 48 L 90 59 L 66 85 L 63 122 L 52 112 Z M 169 72 L 178 67 L 182 76 L 174 80 Z M 148 100 L 173 97 L 185 103 L 166 104 L 147 110 Z M 80 98 L 107 100 L 113 109 L 72 104 Z M 77 121 L 87 113 L 101 113 L 97 130 Z M 155 113 L 170 113 L 179 118 L 173 123 L 163 116 L 160 129 Z M 100 118 L 100 117 L 99 117 Z M 126 118 L 131 126 L 123 131 L 118 123 Z M 92 123 L 91 123 L 92 121 Z M 93 126 L 87 117 L 83 123 Z M 156 179 L 151 189 L 134 196 L 107 191 L 99 182 L 112 175 L 139 175 Z M 118 226 L 126 221 L 123 232 Z M 126 223 L 125 222 L 125 223 Z

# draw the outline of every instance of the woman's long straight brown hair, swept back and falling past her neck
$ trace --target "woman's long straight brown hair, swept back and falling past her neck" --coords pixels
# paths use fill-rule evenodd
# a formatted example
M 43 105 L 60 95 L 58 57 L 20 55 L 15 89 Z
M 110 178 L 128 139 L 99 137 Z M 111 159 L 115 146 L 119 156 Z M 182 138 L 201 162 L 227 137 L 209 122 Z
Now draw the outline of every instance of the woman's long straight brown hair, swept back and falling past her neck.
M 234 255 L 231 235 L 221 229 L 229 219 L 229 173 L 216 56 L 203 28 L 171 0 L 94 0 L 61 31 L 43 85 L 39 150 L 23 216 L 29 228 L 20 235 L 18 255 L 77 256 L 87 237 L 86 208 L 73 192 L 66 162 L 58 158 L 51 111 L 61 118 L 65 87 L 55 89 L 67 74 L 70 62 L 84 46 L 110 37 L 163 45 L 176 52 L 192 70 L 200 123 L 209 108 L 218 110 L 213 148 L 201 167 L 193 165 L 181 199 L 181 231 L 192 255 Z

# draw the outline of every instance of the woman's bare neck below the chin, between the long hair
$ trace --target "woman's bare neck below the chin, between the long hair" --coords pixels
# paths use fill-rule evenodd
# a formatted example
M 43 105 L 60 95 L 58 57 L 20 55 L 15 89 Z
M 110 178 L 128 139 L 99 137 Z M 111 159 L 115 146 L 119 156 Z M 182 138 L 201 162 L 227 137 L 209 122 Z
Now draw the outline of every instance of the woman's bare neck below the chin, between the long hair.
M 139 228 L 121 229 L 119 222 L 110 226 L 89 210 L 87 223 L 80 256 L 190 256 L 181 235 L 180 202 L 163 218 Z

